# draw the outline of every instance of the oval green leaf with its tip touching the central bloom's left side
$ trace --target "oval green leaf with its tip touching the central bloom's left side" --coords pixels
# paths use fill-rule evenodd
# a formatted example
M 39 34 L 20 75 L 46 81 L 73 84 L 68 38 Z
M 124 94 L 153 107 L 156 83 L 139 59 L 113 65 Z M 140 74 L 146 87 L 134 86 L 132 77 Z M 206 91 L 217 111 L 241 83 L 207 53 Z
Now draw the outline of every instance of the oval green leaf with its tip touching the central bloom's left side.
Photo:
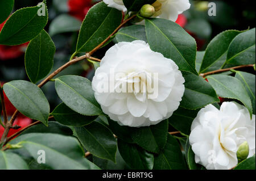
M 100 105 L 94 98 L 92 83 L 80 76 L 64 75 L 55 79 L 55 89 L 60 99 L 81 115 L 101 115 Z

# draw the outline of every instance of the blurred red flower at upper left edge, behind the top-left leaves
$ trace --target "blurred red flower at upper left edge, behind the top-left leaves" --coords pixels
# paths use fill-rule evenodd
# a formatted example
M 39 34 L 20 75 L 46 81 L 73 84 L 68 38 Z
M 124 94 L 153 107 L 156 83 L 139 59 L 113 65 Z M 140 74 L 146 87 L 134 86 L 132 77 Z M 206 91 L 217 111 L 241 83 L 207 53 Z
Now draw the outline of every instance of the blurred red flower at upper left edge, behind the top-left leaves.
M 2 31 L 2 28 L 5 22 L 0 24 L 0 32 Z M 0 60 L 9 60 L 9 59 L 14 59 L 14 58 L 18 58 L 19 56 L 22 56 L 24 54 L 24 48 L 26 48 L 27 45 L 28 43 L 24 43 L 22 45 L 15 45 L 15 46 L 0 45 Z

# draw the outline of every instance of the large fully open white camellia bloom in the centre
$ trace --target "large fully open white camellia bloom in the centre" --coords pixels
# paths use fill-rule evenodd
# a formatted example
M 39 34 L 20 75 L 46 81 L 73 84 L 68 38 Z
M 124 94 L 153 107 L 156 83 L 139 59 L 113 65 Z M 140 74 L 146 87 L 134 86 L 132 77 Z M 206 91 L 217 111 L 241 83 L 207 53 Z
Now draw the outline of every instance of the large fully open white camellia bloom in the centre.
M 184 82 L 174 61 L 137 40 L 115 44 L 106 52 L 92 87 L 97 102 L 112 120 L 144 127 L 166 120 L 177 110 Z

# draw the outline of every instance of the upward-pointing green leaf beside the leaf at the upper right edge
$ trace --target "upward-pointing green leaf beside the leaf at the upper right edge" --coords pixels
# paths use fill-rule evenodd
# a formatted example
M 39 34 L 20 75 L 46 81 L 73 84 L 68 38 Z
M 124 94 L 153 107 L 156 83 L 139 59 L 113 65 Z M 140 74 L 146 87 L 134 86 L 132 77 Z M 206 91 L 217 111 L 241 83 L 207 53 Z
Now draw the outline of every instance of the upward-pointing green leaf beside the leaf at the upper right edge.
M 200 73 L 218 70 L 226 61 L 229 44 L 241 31 L 228 30 L 221 32 L 210 41 L 200 68 Z

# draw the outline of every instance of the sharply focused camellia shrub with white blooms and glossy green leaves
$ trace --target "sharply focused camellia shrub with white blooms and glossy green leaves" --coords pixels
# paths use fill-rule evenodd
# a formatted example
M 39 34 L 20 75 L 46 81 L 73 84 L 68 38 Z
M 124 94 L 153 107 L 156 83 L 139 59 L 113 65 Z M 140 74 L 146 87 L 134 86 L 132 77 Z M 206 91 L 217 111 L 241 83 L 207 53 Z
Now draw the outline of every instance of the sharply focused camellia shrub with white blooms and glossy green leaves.
M 49 34 L 67 27 L 44 30 L 47 1 L 11 15 L 14 0 L 0 2 L 0 46 L 29 41 L 30 80 L 1 84 L 0 169 L 255 169 L 255 28 L 221 32 L 199 52 L 175 23 L 188 0 L 67 3 L 75 18 L 59 20 L 75 19 L 79 36 L 52 69 Z M 60 75 L 82 61 L 92 81 Z

